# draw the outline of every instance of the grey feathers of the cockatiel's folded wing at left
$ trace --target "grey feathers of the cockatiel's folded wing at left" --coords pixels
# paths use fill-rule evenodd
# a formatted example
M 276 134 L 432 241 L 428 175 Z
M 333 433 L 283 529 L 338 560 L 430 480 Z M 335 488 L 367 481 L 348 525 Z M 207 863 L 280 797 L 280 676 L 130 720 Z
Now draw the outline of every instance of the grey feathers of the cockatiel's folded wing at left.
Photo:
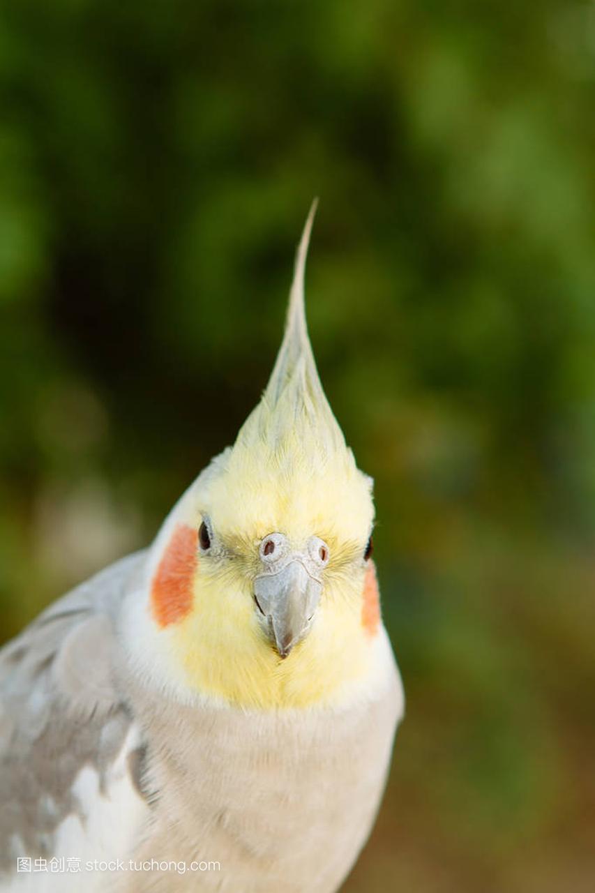
M 145 553 L 129 555 L 60 598 L 0 649 L 0 871 L 51 855 L 63 818 L 80 812 L 72 782 L 100 783 L 132 721 L 118 691 L 114 619 Z

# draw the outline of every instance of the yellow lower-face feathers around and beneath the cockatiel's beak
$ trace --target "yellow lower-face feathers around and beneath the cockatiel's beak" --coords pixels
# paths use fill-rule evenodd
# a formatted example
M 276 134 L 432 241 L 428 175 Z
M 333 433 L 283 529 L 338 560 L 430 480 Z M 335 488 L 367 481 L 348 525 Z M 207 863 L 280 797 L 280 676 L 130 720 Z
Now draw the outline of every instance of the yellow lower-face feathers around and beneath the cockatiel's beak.
M 247 579 L 224 576 L 197 575 L 195 606 L 173 633 L 192 689 L 246 707 L 303 707 L 339 699 L 369 669 L 363 572 L 325 580 L 313 628 L 286 660 L 257 622 Z

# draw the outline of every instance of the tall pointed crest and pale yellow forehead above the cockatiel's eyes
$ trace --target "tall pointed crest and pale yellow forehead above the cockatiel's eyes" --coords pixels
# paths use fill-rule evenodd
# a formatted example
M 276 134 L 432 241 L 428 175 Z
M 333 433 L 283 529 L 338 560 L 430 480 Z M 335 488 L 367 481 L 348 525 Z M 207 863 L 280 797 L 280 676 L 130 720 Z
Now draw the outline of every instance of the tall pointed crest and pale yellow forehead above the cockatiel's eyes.
M 357 470 L 345 443 L 324 395 L 307 333 L 304 274 L 316 204 L 299 242 L 285 332 L 271 378 L 235 445 L 216 464 L 222 473 L 213 487 L 223 489 L 217 489 L 216 497 L 213 490 L 213 500 L 218 506 L 229 505 L 231 513 L 227 523 L 218 515 L 224 528 L 233 526 L 233 513 L 241 505 L 244 524 L 249 506 L 256 526 L 283 523 L 285 529 L 289 521 L 280 520 L 280 506 L 285 505 L 290 506 L 292 522 L 302 517 L 304 530 L 309 530 L 313 499 L 326 506 L 327 514 L 332 506 L 337 529 L 356 518 L 367 530 L 373 517 L 372 481 Z M 267 486 L 259 486 L 264 480 Z M 273 511 L 273 505 L 278 510 Z

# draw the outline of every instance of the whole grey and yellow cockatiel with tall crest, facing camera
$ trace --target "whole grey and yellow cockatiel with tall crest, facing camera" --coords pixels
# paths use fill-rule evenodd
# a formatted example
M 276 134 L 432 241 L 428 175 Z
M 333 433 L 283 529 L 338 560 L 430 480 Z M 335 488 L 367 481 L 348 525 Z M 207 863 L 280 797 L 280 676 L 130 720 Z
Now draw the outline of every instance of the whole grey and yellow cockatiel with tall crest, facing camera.
M 331 893 L 368 837 L 403 691 L 306 332 L 313 215 L 235 445 L 0 652 L 1 890 Z

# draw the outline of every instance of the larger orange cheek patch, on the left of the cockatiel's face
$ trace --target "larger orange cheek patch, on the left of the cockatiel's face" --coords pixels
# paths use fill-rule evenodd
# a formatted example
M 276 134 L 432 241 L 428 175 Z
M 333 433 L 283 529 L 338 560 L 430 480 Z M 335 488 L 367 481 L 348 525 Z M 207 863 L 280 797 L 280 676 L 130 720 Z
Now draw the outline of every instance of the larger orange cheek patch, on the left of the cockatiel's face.
M 197 530 L 178 524 L 153 578 L 151 608 L 159 626 L 181 620 L 192 607 L 198 567 Z

